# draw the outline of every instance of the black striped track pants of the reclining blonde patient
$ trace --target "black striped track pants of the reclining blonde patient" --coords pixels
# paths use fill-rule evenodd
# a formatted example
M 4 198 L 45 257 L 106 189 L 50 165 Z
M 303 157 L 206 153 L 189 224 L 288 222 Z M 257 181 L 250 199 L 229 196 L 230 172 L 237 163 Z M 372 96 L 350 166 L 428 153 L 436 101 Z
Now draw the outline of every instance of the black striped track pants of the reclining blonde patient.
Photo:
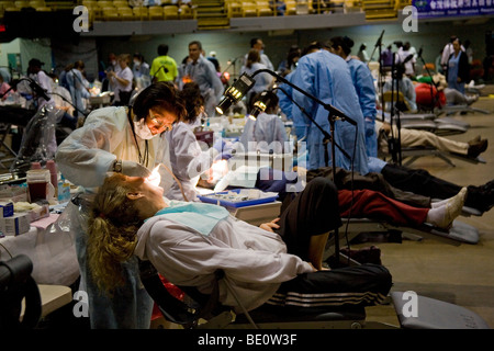
M 327 233 L 341 225 L 340 212 L 348 210 L 348 201 L 338 205 L 339 193 L 328 179 L 315 178 L 288 205 L 279 222 L 280 229 L 277 230 L 287 244 L 288 252 L 306 260 L 310 236 Z M 366 199 L 359 199 L 359 203 L 367 203 Z M 363 211 L 360 206 L 357 208 Z M 302 308 L 304 313 L 379 305 L 388 295 L 391 284 L 390 272 L 382 265 L 371 263 L 317 271 L 282 283 L 266 304 L 290 310 Z

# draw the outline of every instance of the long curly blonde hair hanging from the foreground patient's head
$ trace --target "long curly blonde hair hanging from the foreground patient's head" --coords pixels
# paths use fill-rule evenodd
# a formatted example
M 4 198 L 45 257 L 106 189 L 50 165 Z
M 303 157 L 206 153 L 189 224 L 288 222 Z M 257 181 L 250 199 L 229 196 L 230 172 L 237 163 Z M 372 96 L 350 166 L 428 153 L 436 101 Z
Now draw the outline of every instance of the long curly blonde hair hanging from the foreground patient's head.
M 105 179 L 92 204 L 88 223 L 89 271 L 97 286 L 108 295 L 125 284 L 122 263 L 134 252 L 136 233 L 143 220 L 138 201 L 127 199 L 133 185 L 115 173 Z

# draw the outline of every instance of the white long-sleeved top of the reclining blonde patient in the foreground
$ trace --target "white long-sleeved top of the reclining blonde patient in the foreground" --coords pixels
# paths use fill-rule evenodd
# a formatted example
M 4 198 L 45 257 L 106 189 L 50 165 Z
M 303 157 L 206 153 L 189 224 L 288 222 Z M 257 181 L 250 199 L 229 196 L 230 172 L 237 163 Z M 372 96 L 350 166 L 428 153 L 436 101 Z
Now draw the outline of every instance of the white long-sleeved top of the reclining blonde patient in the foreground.
M 214 272 L 223 270 L 248 310 L 268 301 L 282 282 L 313 271 L 307 262 L 287 253 L 279 235 L 232 216 L 220 220 L 207 236 L 155 216 L 141 227 L 137 240 L 135 254 L 149 260 L 176 285 L 197 286 L 201 293 L 210 294 Z M 242 312 L 223 281 L 220 302 Z

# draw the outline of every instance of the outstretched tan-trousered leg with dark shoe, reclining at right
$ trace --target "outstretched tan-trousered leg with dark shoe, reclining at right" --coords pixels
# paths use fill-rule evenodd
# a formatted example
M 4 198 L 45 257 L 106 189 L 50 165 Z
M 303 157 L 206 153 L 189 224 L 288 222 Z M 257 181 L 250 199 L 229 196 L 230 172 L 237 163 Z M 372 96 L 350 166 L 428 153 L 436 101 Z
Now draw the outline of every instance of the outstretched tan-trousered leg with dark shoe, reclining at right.
M 386 122 L 375 121 L 375 133 L 379 136 L 379 148 L 383 152 L 389 154 L 388 139 L 391 136 L 398 136 L 397 127 L 395 125 L 391 126 Z M 484 152 L 489 146 L 489 140 L 482 139 L 481 136 L 478 136 L 468 143 L 463 143 L 448 139 L 427 131 L 413 128 L 400 128 L 400 140 L 402 148 L 433 146 L 441 151 L 458 154 L 470 158 L 476 158 Z

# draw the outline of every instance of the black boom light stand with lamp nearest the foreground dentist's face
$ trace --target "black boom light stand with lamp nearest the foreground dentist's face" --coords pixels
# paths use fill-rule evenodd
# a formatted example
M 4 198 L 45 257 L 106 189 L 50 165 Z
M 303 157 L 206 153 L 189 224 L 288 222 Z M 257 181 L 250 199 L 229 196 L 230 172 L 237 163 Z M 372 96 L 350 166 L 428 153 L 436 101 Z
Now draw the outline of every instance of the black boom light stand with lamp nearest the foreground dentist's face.
M 358 127 L 357 122 L 355 122 L 353 120 L 351 120 L 350 117 L 348 117 L 345 113 L 343 113 L 341 111 L 339 111 L 338 109 L 336 109 L 335 106 L 333 106 L 332 104 L 325 103 L 323 101 L 321 101 L 319 99 L 317 99 L 316 97 L 310 94 L 308 92 L 304 91 L 303 89 L 299 88 L 297 86 L 293 84 L 291 81 L 284 79 L 283 77 L 277 75 L 276 72 L 273 72 L 270 69 L 259 69 L 256 70 L 251 76 L 247 75 L 247 73 L 243 73 L 235 82 L 232 87 L 229 87 L 227 90 L 225 90 L 224 93 L 224 98 L 222 99 L 222 101 L 220 102 L 218 106 L 216 107 L 216 110 L 218 112 L 222 111 L 226 111 L 227 107 L 229 107 L 229 105 L 232 105 L 233 102 L 237 102 L 238 100 L 240 100 L 243 97 L 245 97 L 245 94 L 254 87 L 254 84 L 256 83 L 256 81 L 254 80 L 254 77 L 262 73 L 262 72 L 267 72 L 269 75 L 271 75 L 272 77 L 277 78 L 277 80 L 290 86 L 291 88 L 293 88 L 294 90 L 299 91 L 300 93 L 304 94 L 305 97 L 307 97 L 308 99 L 315 101 L 316 103 L 318 103 L 319 105 L 322 105 L 327 112 L 328 112 L 328 121 L 329 121 L 329 132 L 330 132 L 330 136 L 335 135 L 335 122 L 336 120 L 341 120 L 341 121 L 346 121 L 352 125 L 356 126 L 356 128 Z M 332 141 L 332 169 L 333 169 L 333 180 L 336 179 L 336 166 L 335 166 L 335 143 L 334 143 L 334 138 L 329 138 L 328 140 L 323 140 L 323 143 L 329 143 L 329 140 Z M 325 149 L 325 161 L 326 161 L 326 166 L 329 165 L 329 157 L 327 155 L 327 147 L 324 148 Z M 335 262 L 338 265 L 339 264 L 339 234 L 338 234 L 338 228 L 335 228 Z

